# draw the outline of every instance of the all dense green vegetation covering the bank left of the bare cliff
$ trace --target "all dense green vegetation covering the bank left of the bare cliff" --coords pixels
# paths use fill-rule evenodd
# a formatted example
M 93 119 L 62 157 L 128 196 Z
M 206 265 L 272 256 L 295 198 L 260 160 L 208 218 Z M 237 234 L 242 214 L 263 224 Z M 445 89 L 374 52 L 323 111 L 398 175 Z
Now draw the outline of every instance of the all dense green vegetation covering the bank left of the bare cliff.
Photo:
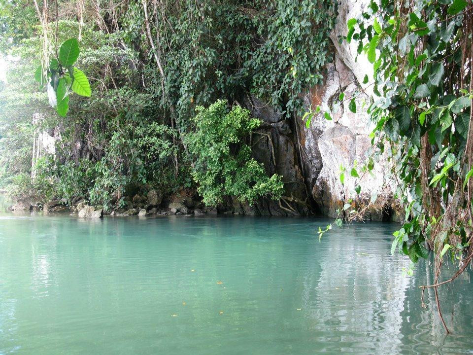
M 330 60 L 335 8 L 322 0 L 2 1 L 1 50 L 10 66 L 0 92 L 0 186 L 15 197 L 84 196 L 105 206 L 130 184 L 197 189 L 208 204 L 223 195 L 277 199 L 281 179 L 251 158 L 258 123 L 238 103 L 253 94 L 287 116 L 300 112 L 299 93 L 320 82 Z M 33 74 L 41 66 L 39 81 L 58 72 L 72 85 L 71 63 L 62 65 L 59 52 L 74 38 L 74 66 L 92 95 L 59 95 L 68 111 L 60 102 L 58 117 Z M 218 100 L 232 104 L 211 106 Z M 53 127 L 61 135 L 56 159 L 32 167 L 35 130 Z M 216 134 L 221 128 L 234 135 Z

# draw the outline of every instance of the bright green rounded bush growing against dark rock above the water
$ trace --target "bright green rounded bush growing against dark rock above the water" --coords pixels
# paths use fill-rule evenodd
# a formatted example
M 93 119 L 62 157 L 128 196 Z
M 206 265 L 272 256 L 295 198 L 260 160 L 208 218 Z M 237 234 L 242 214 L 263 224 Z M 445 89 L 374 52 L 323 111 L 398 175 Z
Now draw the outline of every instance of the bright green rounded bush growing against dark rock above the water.
M 268 178 L 264 167 L 251 158 L 245 136 L 260 126 L 249 111 L 234 106 L 228 111 L 226 101 L 217 101 L 208 108 L 197 107 L 193 122 L 196 131 L 186 139 L 195 157 L 192 176 L 206 205 L 222 201 L 223 195 L 235 196 L 241 202 L 252 203 L 259 196 L 280 198 L 281 177 Z

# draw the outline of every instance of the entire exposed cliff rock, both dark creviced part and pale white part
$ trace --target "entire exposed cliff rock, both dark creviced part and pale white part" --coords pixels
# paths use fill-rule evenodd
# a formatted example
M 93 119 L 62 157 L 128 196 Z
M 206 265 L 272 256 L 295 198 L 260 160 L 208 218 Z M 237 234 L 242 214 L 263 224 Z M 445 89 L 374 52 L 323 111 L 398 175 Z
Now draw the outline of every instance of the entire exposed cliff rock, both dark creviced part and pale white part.
M 369 1 L 342 0 L 339 2 L 337 26 L 331 34 L 334 44 L 333 61 L 326 65 L 324 82 L 301 94 L 305 111 L 321 107 L 310 127 L 305 127 L 302 117 L 289 122 L 270 106 L 250 97 L 244 105 L 252 114 L 263 121 L 253 135 L 253 155 L 265 165 L 268 175 L 277 173 L 285 181 L 285 198 L 280 201 L 259 199 L 251 206 L 234 207 L 234 212 L 244 214 L 289 215 L 306 214 L 310 207 L 315 212 L 336 216 L 350 197 L 354 197 L 356 184 L 361 185 L 357 204 L 365 205 L 372 195 L 379 196 L 377 205 L 368 210 L 367 218 L 387 219 L 391 210 L 392 192 L 383 187 L 387 180 L 386 157 L 375 164 L 374 174 L 361 181 L 350 177 L 355 161 L 363 165 L 371 153 L 369 134 L 373 127 L 366 112 L 372 87 L 372 65 L 360 55 L 357 45 L 338 42 L 338 36 L 345 36 L 346 22 L 356 17 Z M 369 82 L 363 84 L 365 75 Z M 331 108 L 344 94 L 344 101 L 338 109 Z M 355 98 L 357 112 L 348 105 Z M 332 120 L 326 120 L 323 112 L 330 111 Z M 340 166 L 347 169 L 345 183 L 340 182 Z M 311 202 L 311 204 L 310 204 Z M 318 211 L 317 211 L 318 210 Z

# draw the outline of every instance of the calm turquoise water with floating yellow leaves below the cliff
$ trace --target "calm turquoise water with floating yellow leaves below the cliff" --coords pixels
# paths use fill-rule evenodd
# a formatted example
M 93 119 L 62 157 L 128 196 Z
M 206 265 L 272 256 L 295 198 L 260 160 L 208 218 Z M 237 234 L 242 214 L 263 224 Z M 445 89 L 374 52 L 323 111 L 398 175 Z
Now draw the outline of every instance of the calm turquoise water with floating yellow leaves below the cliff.
M 442 289 L 445 336 L 396 224 L 326 224 L 2 214 L 0 354 L 473 354 L 471 274 Z

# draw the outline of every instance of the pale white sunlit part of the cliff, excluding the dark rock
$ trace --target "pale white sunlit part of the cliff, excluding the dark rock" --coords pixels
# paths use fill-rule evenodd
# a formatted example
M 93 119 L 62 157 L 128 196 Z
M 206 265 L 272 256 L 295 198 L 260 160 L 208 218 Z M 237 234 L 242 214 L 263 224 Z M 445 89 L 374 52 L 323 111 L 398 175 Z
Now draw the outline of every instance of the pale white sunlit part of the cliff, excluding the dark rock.
M 296 124 L 301 132 L 300 142 L 304 150 L 301 156 L 305 181 L 310 186 L 311 197 L 320 212 L 336 216 L 337 209 L 354 197 L 355 185 L 360 184 L 361 193 L 357 204 L 368 204 L 372 195 L 376 194 L 379 196 L 377 205 L 368 211 L 367 218 L 381 220 L 389 217 L 392 203 L 390 187 L 383 188 L 387 180 L 385 173 L 389 170 L 387 158 L 381 156 L 374 165 L 374 174 L 365 174 L 360 181 L 350 176 L 355 161 L 363 165 L 372 149 L 369 134 L 374 127 L 366 111 L 369 106 L 368 95 L 371 94 L 368 88 L 372 83 L 372 65 L 364 56 L 358 56 L 355 60 L 355 44 L 338 42 L 338 36 L 346 35 L 347 20 L 356 17 L 367 4 L 368 1 L 346 0 L 339 3 L 337 26 L 331 35 L 336 48 L 334 61 L 326 65 L 324 83 L 303 95 L 306 111 L 320 106 L 322 113 L 314 116 L 308 129 L 302 119 L 296 120 Z M 369 77 L 367 84 L 362 83 L 365 75 Z M 341 93 L 344 94 L 343 103 L 338 110 L 331 110 Z M 353 97 L 356 97 L 356 113 L 348 108 Z M 324 111 L 331 112 L 332 120 L 325 119 Z M 340 167 L 347 170 L 343 185 L 339 178 Z

